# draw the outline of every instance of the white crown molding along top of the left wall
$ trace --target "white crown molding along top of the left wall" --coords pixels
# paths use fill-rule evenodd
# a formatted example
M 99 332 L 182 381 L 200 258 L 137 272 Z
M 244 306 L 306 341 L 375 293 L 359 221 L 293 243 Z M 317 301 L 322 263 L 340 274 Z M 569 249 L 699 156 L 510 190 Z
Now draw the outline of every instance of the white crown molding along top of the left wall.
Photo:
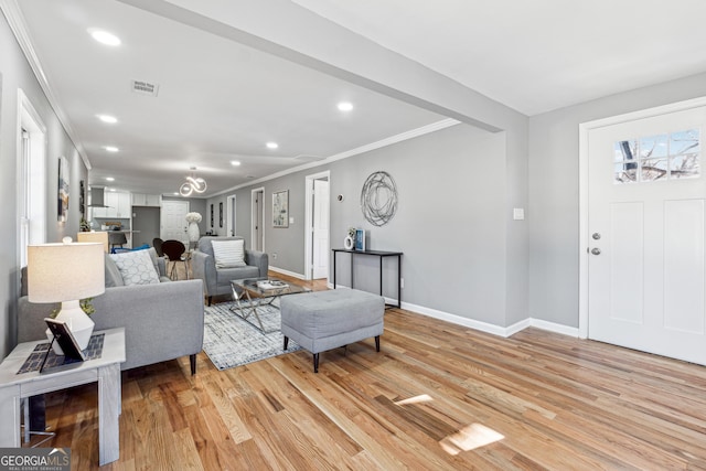
M 22 53 L 26 58 L 26 62 L 30 64 L 30 67 L 32 68 L 34 76 L 40 84 L 40 87 L 42 87 L 42 90 L 44 92 L 44 95 L 49 100 L 49 104 L 56 114 L 56 117 L 62 124 L 64 130 L 68 135 L 68 139 L 71 139 L 74 147 L 78 151 L 81 160 L 83 160 L 86 169 L 90 170 L 92 165 L 90 161 L 88 160 L 88 156 L 86 154 L 83 146 L 81 143 L 77 143 L 79 141 L 75 138 L 76 133 L 71 126 L 68 116 L 66 116 L 66 114 L 60 106 L 56 94 L 54 93 L 53 87 L 50 85 L 49 79 L 46 78 L 46 74 L 44 73 L 42 63 L 36 55 L 36 50 L 32 44 L 29 29 L 26 26 L 26 22 L 24 21 L 24 15 L 20 10 L 20 6 L 18 4 L 18 0 L 0 0 L 0 10 L 4 14 L 4 18 L 8 20 L 8 24 L 10 25 L 10 30 L 12 30 L 12 34 L 14 34 L 14 38 L 17 39 L 18 44 L 20 45 L 20 49 L 22 50 Z

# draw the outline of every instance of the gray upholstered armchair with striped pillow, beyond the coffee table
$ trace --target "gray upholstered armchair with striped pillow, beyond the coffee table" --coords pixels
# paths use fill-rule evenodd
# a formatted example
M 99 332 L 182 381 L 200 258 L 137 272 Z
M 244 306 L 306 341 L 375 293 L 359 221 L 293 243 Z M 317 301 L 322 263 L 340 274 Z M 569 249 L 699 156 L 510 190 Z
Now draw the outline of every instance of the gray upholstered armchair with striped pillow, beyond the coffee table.
M 194 278 L 203 280 L 208 306 L 214 296 L 232 292 L 231 280 L 267 277 L 269 258 L 267 254 L 245 249 L 245 267 L 216 268 L 212 240 L 238 240 L 243 237 L 201 237 L 196 250 L 191 255 L 191 269 Z

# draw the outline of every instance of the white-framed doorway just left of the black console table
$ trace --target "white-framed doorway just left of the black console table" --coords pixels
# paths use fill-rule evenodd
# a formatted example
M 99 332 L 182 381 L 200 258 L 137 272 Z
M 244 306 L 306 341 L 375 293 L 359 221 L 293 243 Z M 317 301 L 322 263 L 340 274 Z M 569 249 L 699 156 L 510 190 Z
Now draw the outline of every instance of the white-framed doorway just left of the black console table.
M 306 178 L 304 279 L 329 277 L 330 179 L 331 172 Z

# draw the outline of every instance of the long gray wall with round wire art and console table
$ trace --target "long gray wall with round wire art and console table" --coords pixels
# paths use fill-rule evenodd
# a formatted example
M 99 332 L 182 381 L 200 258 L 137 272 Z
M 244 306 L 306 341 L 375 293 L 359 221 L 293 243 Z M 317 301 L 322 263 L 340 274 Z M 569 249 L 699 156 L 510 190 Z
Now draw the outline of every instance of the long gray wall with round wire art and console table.
M 511 251 L 507 243 L 513 237 L 524 239 L 525 231 L 524 222 L 507 223 L 511 214 L 506 153 L 505 133 L 457 125 L 256 183 L 236 192 L 238 235 L 245 236 L 250 245 L 250 192 L 265 188 L 265 246 L 270 265 L 303 276 L 304 181 L 309 174 L 329 170 L 332 248 L 343 246 L 349 227 L 365 228 L 368 248 L 404 251 L 405 302 L 505 325 L 506 290 L 511 285 L 507 269 L 512 266 L 506 260 Z M 378 170 L 391 173 L 399 195 L 397 214 L 382 227 L 367 223 L 360 206 L 365 179 Z M 515 191 L 522 193 L 523 188 L 520 185 Z M 295 222 L 288 228 L 274 228 L 271 197 L 282 190 L 289 190 L 289 215 Z M 343 202 L 336 200 L 339 194 L 344 195 Z M 515 234 L 509 235 L 509 229 Z M 377 291 L 377 264 L 373 257 L 356 258 L 356 287 Z M 336 281 L 350 286 L 349 256 L 339 255 L 338 265 Z M 384 295 L 391 298 L 396 298 L 395 269 L 394 263 L 384 266 Z M 518 271 L 518 282 L 526 283 L 526 268 Z M 517 310 L 526 312 L 526 302 Z

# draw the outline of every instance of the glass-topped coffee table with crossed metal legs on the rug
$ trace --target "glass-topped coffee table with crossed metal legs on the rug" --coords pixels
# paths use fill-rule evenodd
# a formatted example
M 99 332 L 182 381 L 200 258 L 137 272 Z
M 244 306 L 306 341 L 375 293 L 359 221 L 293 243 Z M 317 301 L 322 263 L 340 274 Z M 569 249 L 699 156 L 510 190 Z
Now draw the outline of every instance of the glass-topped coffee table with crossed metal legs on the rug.
M 259 325 L 263 333 L 274 331 L 268 332 L 263 327 L 263 321 L 257 310 L 258 307 L 271 306 L 276 299 L 279 299 L 285 295 L 311 291 L 309 288 L 299 285 L 291 285 L 287 281 L 271 277 L 232 280 L 231 288 L 233 289 L 233 299 L 235 299 L 236 302 L 236 306 L 232 308 L 232 311 L 246 321 L 250 315 L 255 317 L 257 325 Z M 257 327 L 254 323 L 253 325 Z

